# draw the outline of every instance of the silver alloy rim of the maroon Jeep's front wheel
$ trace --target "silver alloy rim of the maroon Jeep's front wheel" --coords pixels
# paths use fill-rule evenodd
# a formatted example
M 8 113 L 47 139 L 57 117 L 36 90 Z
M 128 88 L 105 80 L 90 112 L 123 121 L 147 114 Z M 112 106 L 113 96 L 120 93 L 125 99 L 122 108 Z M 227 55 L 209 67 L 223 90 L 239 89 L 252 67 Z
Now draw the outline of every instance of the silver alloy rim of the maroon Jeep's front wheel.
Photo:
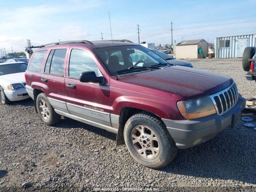
M 132 143 L 142 158 L 154 159 L 160 151 L 156 134 L 147 126 L 139 125 L 132 130 Z

